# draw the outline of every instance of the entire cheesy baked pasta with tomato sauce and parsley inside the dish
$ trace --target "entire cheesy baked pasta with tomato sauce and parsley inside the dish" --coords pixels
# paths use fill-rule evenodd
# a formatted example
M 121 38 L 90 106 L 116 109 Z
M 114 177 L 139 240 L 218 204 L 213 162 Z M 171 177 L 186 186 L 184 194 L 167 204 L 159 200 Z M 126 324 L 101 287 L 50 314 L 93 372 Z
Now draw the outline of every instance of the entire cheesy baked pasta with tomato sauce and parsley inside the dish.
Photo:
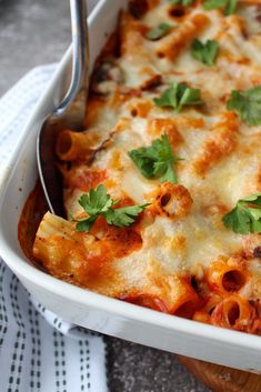
M 64 129 L 57 157 L 67 219 L 41 220 L 46 271 L 261 332 L 260 0 L 130 0 L 97 60 L 86 131 Z

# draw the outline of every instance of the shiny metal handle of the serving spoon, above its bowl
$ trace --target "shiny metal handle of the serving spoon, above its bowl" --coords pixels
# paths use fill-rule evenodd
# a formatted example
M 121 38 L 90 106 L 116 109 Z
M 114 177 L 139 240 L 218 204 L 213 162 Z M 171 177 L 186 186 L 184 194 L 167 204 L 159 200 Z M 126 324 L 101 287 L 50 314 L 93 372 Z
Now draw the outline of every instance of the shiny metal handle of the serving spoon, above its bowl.
M 87 0 L 70 0 L 72 34 L 72 77 L 70 87 L 54 115 L 62 115 L 72 102 L 77 101 L 79 125 L 86 113 L 87 92 L 89 88 L 89 39 L 87 26 Z M 78 97 L 79 96 L 79 97 Z M 82 104 L 79 104 L 82 102 Z

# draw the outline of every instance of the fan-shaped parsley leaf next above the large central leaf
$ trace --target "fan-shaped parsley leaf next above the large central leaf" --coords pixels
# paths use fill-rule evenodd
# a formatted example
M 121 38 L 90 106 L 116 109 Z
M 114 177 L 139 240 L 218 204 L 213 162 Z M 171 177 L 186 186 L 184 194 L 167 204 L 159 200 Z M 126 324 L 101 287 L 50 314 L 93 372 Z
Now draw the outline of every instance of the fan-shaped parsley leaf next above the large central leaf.
M 174 82 L 169 89 L 164 90 L 159 98 L 154 98 L 158 107 L 171 107 L 180 112 L 182 107 L 202 104 L 201 93 L 199 89 L 193 89 L 185 83 Z

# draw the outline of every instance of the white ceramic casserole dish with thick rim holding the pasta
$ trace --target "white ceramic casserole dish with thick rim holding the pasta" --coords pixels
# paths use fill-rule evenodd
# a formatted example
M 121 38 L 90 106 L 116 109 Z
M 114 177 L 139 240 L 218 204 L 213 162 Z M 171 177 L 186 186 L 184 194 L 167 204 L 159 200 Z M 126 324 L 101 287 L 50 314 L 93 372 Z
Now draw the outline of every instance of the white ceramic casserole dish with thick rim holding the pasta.
M 89 18 L 91 64 L 116 28 L 127 1 L 101 0 Z M 18 242 L 19 217 L 38 177 L 36 138 L 70 69 L 71 50 L 64 54 L 49 89 L 24 129 L 0 193 L 0 253 L 32 295 L 63 319 L 113 336 L 237 369 L 261 372 L 261 338 L 184 320 L 110 299 L 59 281 L 38 270 Z M 19 191 L 19 189 L 22 191 Z

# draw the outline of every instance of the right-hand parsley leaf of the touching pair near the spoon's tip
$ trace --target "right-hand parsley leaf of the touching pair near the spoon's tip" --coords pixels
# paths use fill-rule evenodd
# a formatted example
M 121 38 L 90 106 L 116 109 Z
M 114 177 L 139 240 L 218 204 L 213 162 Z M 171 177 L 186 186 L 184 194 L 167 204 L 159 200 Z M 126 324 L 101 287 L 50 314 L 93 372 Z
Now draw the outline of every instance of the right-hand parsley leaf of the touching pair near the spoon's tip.
M 149 204 L 129 205 L 114 210 L 111 209 L 104 213 L 104 218 L 109 224 L 123 228 L 133 223 L 139 213 L 141 213 L 148 205 Z

